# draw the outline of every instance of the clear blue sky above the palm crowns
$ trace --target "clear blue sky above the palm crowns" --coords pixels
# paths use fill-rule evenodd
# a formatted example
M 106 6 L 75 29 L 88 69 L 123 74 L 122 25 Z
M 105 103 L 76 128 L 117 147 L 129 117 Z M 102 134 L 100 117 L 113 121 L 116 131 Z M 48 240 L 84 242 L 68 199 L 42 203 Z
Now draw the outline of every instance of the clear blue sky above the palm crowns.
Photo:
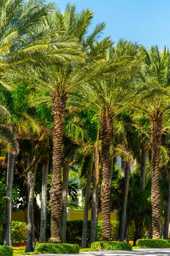
M 64 11 L 67 0 L 55 2 Z M 144 46 L 170 47 L 170 0 L 74 0 L 77 10 L 94 10 L 94 23 L 105 21 L 104 35 L 138 41 Z

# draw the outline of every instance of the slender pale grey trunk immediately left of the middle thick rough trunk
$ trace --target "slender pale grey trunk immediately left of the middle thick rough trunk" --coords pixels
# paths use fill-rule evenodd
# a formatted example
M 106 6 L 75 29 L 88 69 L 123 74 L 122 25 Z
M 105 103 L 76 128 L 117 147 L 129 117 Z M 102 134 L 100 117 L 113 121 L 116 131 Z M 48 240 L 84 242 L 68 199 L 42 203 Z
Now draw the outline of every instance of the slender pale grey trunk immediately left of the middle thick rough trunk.
M 92 202 L 91 202 L 91 236 L 90 244 L 97 241 L 97 213 L 98 213 L 98 189 L 96 182 L 96 172 L 93 170 L 93 190 L 92 190 Z

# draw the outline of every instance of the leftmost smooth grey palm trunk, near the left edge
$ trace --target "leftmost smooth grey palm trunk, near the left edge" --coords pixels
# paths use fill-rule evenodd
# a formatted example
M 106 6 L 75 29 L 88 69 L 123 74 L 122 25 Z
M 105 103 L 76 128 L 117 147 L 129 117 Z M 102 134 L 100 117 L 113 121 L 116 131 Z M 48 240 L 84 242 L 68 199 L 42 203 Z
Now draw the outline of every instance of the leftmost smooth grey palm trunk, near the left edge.
M 4 233 L 4 245 L 12 246 L 11 221 L 12 221 L 12 187 L 14 181 L 15 156 L 10 151 L 8 153 L 7 167 L 7 191 L 6 191 L 6 224 Z

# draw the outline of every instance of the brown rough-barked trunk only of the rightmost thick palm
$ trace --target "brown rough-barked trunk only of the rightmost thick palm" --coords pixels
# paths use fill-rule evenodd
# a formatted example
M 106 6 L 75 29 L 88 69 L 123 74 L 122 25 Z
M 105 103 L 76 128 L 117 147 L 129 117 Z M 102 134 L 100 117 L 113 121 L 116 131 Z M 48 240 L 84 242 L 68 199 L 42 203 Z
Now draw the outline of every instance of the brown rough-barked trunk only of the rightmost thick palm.
M 160 239 L 160 204 L 161 195 L 159 189 L 159 163 L 161 147 L 162 118 L 151 118 L 152 162 L 151 162 L 151 204 L 152 204 L 152 230 L 153 239 Z

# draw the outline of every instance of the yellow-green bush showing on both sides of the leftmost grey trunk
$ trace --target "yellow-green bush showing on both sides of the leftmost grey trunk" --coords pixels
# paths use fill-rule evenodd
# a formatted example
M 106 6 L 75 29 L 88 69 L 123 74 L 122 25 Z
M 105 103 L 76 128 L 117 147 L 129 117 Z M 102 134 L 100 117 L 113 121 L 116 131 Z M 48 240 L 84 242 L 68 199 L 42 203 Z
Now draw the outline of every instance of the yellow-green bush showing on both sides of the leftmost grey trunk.
M 0 226 L 0 244 L 3 244 L 4 229 Z M 11 236 L 13 244 L 21 244 L 27 239 L 27 224 L 25 222 L 12 221 Z

